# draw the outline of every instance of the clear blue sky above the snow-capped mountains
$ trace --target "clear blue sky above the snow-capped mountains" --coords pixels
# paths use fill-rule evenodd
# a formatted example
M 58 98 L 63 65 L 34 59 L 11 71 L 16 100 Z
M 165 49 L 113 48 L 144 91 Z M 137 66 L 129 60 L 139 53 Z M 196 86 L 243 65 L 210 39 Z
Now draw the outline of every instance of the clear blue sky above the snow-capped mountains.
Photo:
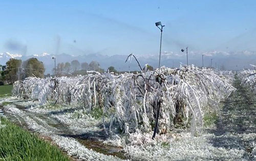
M 256 51 L 256 1 L 4 1 L 0 53 Z

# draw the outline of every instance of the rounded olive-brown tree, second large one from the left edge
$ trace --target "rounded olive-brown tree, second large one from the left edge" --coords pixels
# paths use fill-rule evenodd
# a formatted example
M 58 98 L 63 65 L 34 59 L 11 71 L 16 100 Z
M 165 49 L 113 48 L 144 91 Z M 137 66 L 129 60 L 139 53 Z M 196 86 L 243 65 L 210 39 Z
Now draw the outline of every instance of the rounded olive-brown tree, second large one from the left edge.
M 30 58 L 23 63 L 25 69 L 25 78 L 27 77 L 39 77 L 44 78 L 45 66 L 44 63 L 38 61 L 36 58 Z

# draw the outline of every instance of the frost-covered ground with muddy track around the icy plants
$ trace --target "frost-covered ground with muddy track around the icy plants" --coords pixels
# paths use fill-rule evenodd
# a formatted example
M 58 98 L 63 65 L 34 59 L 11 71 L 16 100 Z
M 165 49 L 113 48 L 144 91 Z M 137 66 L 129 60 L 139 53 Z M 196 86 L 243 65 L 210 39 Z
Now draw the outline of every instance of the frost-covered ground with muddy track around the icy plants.
M 201 135 L 191 136 L 189 130 L 176 129 L 157 135 L 155 140 L 151 139 L 153 132 L 108 137 L 102 119 L 78 107 L 41 106 L 14 98 L 0 100 L 0 104 L 7 117 L 50 136 L 61 149 L 82 160 L 119 158 L 89 150 L 78 139 L 100 141 L 102 148 L 104 145 L 121 147 L 127 156 L 123 159 L 130 160 L 256 160 L 256 97 L 240 83 L 238 79 L 234 81 L 237 91 L 222 103 L 222 120 L 204 127 Z

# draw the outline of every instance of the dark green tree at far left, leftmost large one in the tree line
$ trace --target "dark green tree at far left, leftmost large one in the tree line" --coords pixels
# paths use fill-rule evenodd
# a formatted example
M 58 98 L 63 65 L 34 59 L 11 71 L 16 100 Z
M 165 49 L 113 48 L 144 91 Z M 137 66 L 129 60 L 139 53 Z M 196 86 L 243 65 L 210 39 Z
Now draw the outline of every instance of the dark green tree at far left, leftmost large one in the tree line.
M 19 67 L 22 65 L 22 60 L 13 59 L 11 58 L 6 62 L 6 73 L 7 81 L 14 83 L 18 80 L 18 70 Z M 2 67 L 3 68 L 3 67 Z

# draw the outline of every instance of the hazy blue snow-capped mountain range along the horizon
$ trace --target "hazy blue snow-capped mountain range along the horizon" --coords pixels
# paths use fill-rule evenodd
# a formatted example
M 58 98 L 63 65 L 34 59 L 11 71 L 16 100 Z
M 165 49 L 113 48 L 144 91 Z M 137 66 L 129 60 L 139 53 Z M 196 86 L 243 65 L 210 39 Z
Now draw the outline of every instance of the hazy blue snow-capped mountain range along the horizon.
M 127 54 L 128 55 L 128 54 Z M 101 54 L 88 54 L 72 56 L 69 54 L 59 54 L 53 55 L 49 53 L 34 54 L 30 56 L 23 56 L 20 54 L 11 54 L 8 52 L 0 53 L 0 64 L 4 65 L 10 58 L 27 60 L 29 58 L 35 57 L 42 61 L 46 67 L 46 74 L 52 73 L 54 67 L 54 61 L 52 57 L 56 58 L 56 65 L 60 62 L 71 62 L 72 60 L 78 60 L 80 63 L 91 61 L 97 61 L 101 68 L 106 70 L 109 66 L 114 66 L 116 70 L 121 71 L 131 71 L 139 70 L 137 62 L 132 59 L 130 62 L 126 62 L 127 55 L 101 55 Z M 197 66 L 202 66 L 202 55 L 204 55 L 204 66 L 210 66 L 210 59 L 212 59 L 213 67 L 225 66 L 226 70 L 238 70 L 241 68 L 251 67 L 249 64 L 256 64 L 256 52 L 242 51 L 242 52 L 224 52 L 224 51 L 212 51 L 212 52 L 188 52 L 188 63 L 195 64 Z M 136 55 L 141 66 L 144 64 L 150 64 L 154 68 L 158 66 L 158 54 L 152 55 Z M 163 52 L 161 54 L 161 65 L 168 67 L 179 67 L 180 64 L 186 63 L 186 52 Z

